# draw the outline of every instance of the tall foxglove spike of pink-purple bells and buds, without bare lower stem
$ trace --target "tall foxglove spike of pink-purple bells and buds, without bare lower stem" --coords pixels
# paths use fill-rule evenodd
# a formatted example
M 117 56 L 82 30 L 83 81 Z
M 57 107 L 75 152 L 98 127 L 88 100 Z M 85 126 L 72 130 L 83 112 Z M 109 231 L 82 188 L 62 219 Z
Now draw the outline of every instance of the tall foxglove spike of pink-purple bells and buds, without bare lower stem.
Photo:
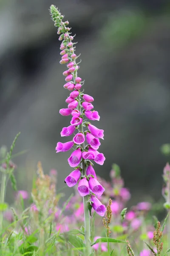
M 96 197 L 101 196 L 105 189 L 96 179 L 96 174 L 92 167 L 93 163 L 91 163 L 91 160 L 94 160 L 97 164 L 103 165 L 105 161 L 104 155 L 97 151 L 100 146 L 99 139 L 103 140 L 104 131 L 83 119 L 85 117 L 86 120 L 99 121 L 100 116 L 97 111 L 92 111 L 94 106 L 91 102 L 94 101 L 94 98 L 81 92 L 84 81 L 77 76 L 77 70 L 79 69 L 77 58 L 79 56 L 75 54 L 76 43 L 72 42 L 74 37 L 71 36 L 71 29 L 68 27 L 69 23 L 68 21 L 62 21 L 63 15 L 54 5 L 51 6 L 50 11 L 54 25 L 58 27 L 59 41 L 62 41 L 60 64 L 66 64 L 68 68 L 63 72 L 63 75 L 66 76 L 64 88 L 72 91 L 65 100 L 68 103 L 68 107 L 59 111 L 62 116 L 72 116 L 71 125 L 62 128 L 61 137 L 74 134 L 74 138 L 71 141 L 67 143 L 58 142 L 56 152 L 65 152 L 76 147 L 68 158 L 68 164 L 74 168 L 74 171 L 65 178 L 65 183 L 72 187 L 79 182 L 79 194 L 81 196 L 88 195 L 88 201 L 94 210 L 99 215 L 104 216 L 106 207 Z M 87 131 L 83 131 L 83 127 L 87 127 Z M 75 134 L 75 131 L 77 131 L 77 134 Z M 85 140 L 88 143 L 87 146 L 84 144 Z M 82 162 L 85 171 L 84 169 L 82 170 L 82 166 L 79 166 Z

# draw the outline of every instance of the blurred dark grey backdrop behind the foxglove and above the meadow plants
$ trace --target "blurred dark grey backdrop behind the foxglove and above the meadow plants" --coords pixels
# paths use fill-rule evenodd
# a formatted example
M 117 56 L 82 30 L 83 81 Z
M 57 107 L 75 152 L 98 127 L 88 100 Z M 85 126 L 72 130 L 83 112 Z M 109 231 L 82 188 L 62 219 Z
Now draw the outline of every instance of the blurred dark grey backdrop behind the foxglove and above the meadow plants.
M 55 153 L 70 116 L 59 115 L 69 92 L 51 4 L 76 33 L 79 76 L 101 117 L 93 124 L 105 130 L 97 174 L 108 180 L 117 163 L 133 198 L 160 198 L 168 160 L 160 146 L 170 142 L 169 0 L 0 0 L 0 144 L 21 131 L 14 153 L 28 152 L 14 159 L 19 189 L 31 190 L 39 160 L 45 173 L 57 169 L 58 189 L 72 171 L 71 151 Z

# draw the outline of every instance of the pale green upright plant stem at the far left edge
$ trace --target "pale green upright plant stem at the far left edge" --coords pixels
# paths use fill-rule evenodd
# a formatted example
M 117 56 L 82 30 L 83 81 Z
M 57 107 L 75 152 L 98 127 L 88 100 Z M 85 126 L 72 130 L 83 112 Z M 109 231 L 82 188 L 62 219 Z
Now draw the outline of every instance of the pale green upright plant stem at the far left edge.
M 6 173 L 2 174 L 1 189 L 0 189 L 0 204 L 5 202 L 5 192 L 6 192 Z M 0 240 L 3 235 L 3 212 L 0 212 Z M 2 243 L 0 242 L 0 252 L 2 252 Z M 0 253 L 1 255 L 1 253 Z

